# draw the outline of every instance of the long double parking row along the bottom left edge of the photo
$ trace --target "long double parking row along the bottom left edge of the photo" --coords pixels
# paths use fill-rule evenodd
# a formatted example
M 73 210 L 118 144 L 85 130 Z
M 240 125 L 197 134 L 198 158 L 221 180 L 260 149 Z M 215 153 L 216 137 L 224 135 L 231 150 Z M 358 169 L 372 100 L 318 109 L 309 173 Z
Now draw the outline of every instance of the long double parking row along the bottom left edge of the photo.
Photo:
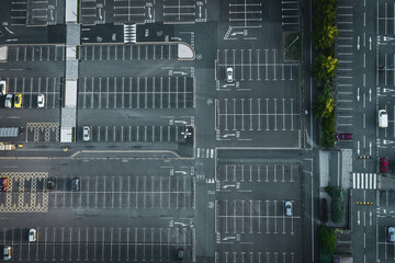
M 191 260 L 190 228 L 57 227 L 37 228 L 37 241 L 26 242 L 26 229 L 0 231 L 4 245 L 11 245 L 14 261 L 151 261 L 173 262 L 184 250 Z

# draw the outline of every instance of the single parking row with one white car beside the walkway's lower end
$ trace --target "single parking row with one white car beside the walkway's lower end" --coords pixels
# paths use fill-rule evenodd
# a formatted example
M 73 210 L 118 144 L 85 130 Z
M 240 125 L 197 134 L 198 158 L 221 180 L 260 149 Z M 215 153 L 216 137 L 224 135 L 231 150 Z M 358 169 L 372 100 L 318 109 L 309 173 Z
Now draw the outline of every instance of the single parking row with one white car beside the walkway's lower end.
M 82 141 L 82 128 L 78 139 Z M 185 126 L 91 126 L 97 142 L 185 142 Z

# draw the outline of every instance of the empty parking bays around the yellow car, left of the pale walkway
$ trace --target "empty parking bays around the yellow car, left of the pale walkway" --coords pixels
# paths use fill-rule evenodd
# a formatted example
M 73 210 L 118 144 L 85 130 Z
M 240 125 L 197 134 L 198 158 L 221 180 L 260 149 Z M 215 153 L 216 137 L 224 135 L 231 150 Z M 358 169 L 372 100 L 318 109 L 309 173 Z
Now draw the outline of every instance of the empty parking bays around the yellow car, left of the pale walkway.
M 7 93 L 22 94 L 23 108 L 37 108 L 37 95 L 44 94 L 45 108 L 60 107 L 60 78 L 7 78 Z

